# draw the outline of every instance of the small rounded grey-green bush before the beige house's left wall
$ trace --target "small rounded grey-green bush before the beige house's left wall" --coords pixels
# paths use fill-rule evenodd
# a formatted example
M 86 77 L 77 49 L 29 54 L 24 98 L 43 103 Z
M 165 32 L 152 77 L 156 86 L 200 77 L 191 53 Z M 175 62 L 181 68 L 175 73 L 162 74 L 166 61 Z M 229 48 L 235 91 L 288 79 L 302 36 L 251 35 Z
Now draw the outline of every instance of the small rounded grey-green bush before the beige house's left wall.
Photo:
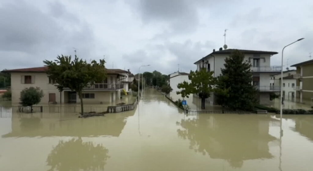
M 25 88 L 21 91 L 20 103 L 22 106 L 33 106 L 38 104 L 42 97 L 44 97 L 44 92 L 39 87 Z

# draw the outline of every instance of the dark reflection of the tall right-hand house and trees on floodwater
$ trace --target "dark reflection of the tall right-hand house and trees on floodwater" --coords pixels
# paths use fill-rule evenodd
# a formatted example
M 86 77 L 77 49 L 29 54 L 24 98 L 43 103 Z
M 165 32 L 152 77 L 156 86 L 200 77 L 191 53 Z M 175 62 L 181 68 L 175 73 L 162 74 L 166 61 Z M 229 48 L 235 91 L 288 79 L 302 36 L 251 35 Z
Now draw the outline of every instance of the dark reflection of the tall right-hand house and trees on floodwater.
M 273 158 L 268 146 L 275 140 L 269 135 L 270 120 L 266 115 L 198 115 L 181 120 L 183 129 L 177 133 L 190 141 L 190 149 L 195 152 L 225 159 L 231 166 L 240 168 L 244 160 Z

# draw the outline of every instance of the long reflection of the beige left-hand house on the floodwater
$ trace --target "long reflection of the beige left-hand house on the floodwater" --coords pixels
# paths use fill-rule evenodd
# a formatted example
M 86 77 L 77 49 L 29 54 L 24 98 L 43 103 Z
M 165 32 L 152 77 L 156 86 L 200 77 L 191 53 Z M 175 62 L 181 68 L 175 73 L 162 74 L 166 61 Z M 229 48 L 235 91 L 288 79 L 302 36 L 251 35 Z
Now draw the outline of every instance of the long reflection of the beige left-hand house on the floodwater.
M 34 136 L 119 136 L 126 125 L 126 118 L 135 111 L 109 113 L 105 116 L 77 118 L 76 114 L 43 113 L 12 117 L 12 131 L 3 137 Z M 57 117 L 55 117 L 57 116 Z

